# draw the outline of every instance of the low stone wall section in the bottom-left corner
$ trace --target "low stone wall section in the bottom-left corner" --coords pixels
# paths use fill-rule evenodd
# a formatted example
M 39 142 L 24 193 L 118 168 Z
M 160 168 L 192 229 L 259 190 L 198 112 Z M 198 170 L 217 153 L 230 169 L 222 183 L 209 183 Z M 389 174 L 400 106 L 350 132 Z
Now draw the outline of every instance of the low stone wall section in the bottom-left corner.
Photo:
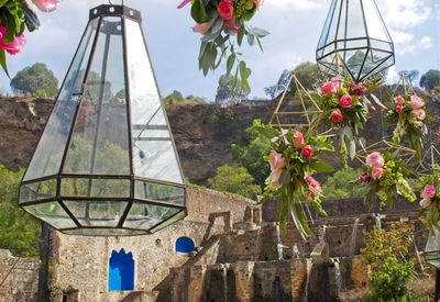
M 38 268 L 37 258 L 18 258 L 0 249 L 0 301 L 37 301 Z

